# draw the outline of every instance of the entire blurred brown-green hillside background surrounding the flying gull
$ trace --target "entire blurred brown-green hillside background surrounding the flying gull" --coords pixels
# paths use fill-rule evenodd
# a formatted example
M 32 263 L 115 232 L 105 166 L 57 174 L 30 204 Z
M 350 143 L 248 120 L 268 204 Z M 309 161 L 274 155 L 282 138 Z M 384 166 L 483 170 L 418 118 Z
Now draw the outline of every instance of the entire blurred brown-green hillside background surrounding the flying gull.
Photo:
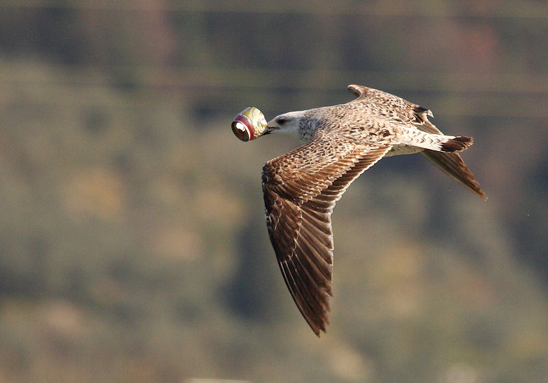
M 0 3 L 0 381 L 545 382 L 546 1 Z M 334 211 L 331 325 L 279 274 L 230 122 L 432 109 L 483 202 L 420 155 Z

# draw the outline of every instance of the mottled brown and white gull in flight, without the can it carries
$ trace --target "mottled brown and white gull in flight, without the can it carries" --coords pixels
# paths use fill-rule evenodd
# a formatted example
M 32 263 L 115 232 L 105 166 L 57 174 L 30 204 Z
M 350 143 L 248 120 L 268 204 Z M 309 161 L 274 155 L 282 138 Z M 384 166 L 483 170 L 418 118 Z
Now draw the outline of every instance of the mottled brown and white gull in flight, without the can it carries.
M 428 109 L 362 85 L 349 103 L 291 111 L 273 118 L 266 134 L 285 133 L 303 145 L 262 168 L 266 226 L 279 269 L 316 336 L 329 324 L 332 293 L 331 214 L 347 187 L 379 159 L 421 153 L 484 200 L 458 152 L 471 137 L 443 135 Z

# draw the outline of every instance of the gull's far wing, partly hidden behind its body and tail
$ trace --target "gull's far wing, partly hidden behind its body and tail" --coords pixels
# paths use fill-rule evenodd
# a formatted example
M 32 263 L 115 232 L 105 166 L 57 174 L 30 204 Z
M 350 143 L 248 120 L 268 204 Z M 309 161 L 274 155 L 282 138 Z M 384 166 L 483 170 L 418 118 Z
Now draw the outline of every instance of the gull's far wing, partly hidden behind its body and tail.
M 403 122 L 415 124 L 417 129 L 433 134 L 443 134 L 441 131 L 429 122 L 428 116 L 433 117 L 432 111 L 419 105 L 410 103 L 401 97 L 382 92 L 373 88 L 367 88 L 363 85 L 348 85 L 348 90 L 356 94 L 358 98 L 351 103 L 363 102 L 375 105 L 375 109 L 382 108 L 383 113 L 390 118 L 395 118 Z M 378 112 L 378 110 L 377 110 Z M 421 154 L 434 163 L 445 174 L 452 179 L 471 190 L 484 200 L 487 199 L 479 183 L 474 178 L 471 170 L 466 166 L 462 157 L 458 153 L 436 152 L 434 150 L 423 150 Z

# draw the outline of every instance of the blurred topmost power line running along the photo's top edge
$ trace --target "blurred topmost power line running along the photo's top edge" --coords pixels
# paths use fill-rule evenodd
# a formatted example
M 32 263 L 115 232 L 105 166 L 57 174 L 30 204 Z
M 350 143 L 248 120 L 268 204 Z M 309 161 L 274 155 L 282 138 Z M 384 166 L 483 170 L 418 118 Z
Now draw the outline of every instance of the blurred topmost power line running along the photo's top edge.
M 456 5 L 457 4 L 457 5 Z M 17 0 L 3 1 L 0 8 L 64 8 L 78 10 L 125 10 L 166 11 L 195 13 L 242 13 L 242 14 L 301 14 L 376 17 L 423 17 L 423 18 L 548 18 L 545 3 L 532 1 L 490 2 L 485 6 L 426 6 L 424 1 L 407 2 L 394 6 L 387 2 L 355 3 L 349 1 L 162 1 L 143 4 L 134 1 L 61 1 Z

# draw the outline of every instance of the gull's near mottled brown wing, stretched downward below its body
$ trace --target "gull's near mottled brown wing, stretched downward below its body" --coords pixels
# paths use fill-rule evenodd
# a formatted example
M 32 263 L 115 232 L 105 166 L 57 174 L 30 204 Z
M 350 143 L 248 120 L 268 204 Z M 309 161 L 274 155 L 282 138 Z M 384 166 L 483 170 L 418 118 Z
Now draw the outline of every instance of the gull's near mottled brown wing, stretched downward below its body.
M 295 304 L 317 336 L 329 323 L 331 213 L 348 185 L 390 146 L 353 146 L 316 138 L 264 165 L 266 226 Z M 345 147 L 346 146 L 346 147 Z

